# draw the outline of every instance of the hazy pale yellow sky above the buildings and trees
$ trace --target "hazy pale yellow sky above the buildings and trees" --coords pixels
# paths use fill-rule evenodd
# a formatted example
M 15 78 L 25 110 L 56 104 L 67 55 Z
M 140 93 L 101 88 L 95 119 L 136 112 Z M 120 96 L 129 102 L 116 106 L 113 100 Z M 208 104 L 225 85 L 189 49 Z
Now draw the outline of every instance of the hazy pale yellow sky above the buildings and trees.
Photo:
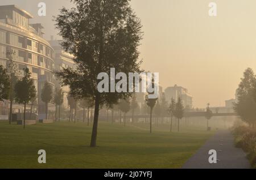
M 46 2 L 47 16 L 37 15 Z M 209 2 L 217 3 L 217 17 L 208 15 Z M 1 0 L 18 5 L 42 23 L 46 38 L 59 39 L 52 22 L 70 0 Z M 256 70 L 256 1 L 254 0 L 132 0 L 142 20 L 140 47 L 144 70 L 160 73 L 163 88 L 181 85 L 193 96 L 193 106 L 224 106 L 234 98 L 243 71 Z

